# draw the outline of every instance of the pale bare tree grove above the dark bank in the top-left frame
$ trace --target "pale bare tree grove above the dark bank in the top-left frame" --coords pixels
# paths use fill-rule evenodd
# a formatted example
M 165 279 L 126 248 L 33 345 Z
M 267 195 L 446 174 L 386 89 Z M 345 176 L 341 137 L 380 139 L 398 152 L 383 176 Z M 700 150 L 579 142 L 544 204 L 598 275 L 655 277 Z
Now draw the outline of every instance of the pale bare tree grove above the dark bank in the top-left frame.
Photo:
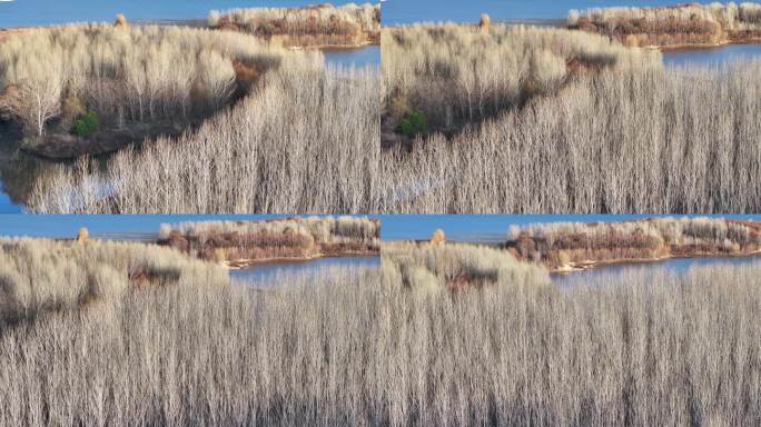
M 24 31 L 0 49 L 2 108 L 37 136 L 51 119 L 66 128 L 85 111 L 112 127 L 188 118 L 229 101 L 236 66 L 264 72 L 299 59 L 309 60 L 226 31 L 106 24 Z

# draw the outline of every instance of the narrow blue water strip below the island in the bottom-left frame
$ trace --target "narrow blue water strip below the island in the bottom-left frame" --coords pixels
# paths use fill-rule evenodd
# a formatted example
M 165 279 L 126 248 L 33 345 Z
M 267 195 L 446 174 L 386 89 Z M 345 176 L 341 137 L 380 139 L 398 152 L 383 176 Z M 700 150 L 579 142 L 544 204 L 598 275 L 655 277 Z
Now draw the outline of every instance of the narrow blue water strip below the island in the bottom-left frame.
M 325 268 L 376 268 L 381 266 L 381 257 L 330 257 L 308 261 L 263 262 L 240 270 L 230 270 L 230 278 L 239 284 L 255 286 L 277 286 L 287 275 L 317 272 Z

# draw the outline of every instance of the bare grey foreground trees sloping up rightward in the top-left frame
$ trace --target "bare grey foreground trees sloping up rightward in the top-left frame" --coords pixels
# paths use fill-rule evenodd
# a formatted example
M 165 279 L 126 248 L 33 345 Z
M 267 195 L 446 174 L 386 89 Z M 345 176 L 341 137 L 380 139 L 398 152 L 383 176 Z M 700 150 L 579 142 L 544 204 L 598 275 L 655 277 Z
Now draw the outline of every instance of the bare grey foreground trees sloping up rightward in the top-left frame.
M 221 33 L 221 32 L 219 32 Z M 245 36 L 240 36 L 245 37 Z M 379 75 L 283 58 L 263 88 L 177 138 L 36 179 L 39 212 L 376 211 Z M 150 190 L 147 190 L 150 189 Z

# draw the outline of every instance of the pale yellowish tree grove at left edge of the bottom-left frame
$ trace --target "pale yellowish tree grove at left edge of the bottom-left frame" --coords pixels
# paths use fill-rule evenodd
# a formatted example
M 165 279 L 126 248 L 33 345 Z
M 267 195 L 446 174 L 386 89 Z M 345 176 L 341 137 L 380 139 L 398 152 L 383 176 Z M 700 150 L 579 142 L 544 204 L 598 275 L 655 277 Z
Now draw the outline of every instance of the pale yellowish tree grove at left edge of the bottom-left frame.
M 0 239 L 0 332 L 42 312 L 118 299 L 137 286 L 225 278 L 221 268 L 155 245 Z

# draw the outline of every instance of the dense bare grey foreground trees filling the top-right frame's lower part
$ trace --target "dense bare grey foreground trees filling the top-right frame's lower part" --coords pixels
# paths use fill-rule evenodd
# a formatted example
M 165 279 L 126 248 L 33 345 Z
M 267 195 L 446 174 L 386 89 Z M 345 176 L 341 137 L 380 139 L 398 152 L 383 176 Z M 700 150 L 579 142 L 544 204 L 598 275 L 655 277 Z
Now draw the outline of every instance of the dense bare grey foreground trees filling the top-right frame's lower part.
M 758 61 L 603 70 L 556 96 L 383 152 L 379 211 L 755 212 Z

